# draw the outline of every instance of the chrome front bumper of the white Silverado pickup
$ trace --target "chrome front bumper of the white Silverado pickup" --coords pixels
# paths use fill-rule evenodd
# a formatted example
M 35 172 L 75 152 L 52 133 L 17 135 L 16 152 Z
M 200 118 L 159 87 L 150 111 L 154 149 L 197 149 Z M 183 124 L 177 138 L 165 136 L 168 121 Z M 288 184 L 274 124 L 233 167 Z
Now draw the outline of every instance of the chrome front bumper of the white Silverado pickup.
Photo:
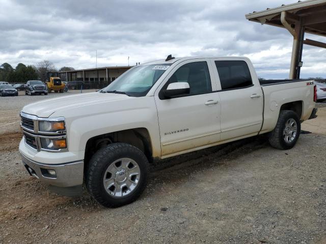
M 83 184 L 84 161 L 63 164 L 43 164 L 21 155 L 21 160 L 30 175 L 46 184 L 57 187 L 73 187 Z M 53 171 L 55 172 L 53 174 Z

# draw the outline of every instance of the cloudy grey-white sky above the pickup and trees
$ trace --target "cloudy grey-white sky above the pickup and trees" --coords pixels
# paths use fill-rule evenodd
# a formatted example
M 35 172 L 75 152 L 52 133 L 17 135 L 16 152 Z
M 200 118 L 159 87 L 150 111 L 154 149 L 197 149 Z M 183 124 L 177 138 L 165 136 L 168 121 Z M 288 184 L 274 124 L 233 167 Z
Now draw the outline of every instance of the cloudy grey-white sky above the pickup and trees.
M 241 55 L 265 78 L 287 78 L 292 37 L 245 14 L 296 0 L 0 0 L 0 64 L 48 59 L 75 69 L 174 56 Z M 307 38 L 325 42 L 324 38 Z M 326 50 L 304 47 L 302 78 L 326 77 Z

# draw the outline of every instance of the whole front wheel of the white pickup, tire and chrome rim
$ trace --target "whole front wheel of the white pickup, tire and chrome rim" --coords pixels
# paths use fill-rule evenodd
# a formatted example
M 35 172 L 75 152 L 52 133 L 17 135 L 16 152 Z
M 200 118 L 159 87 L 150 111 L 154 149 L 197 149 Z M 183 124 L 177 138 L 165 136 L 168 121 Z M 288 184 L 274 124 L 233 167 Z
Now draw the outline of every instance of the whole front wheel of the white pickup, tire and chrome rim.
M 119 207 L 142 194 L 147 177 L 148 160 L 140 149 L 126 143 L 112 143 L 93 155 L 87 168 L 86 185 L 98 203 Z

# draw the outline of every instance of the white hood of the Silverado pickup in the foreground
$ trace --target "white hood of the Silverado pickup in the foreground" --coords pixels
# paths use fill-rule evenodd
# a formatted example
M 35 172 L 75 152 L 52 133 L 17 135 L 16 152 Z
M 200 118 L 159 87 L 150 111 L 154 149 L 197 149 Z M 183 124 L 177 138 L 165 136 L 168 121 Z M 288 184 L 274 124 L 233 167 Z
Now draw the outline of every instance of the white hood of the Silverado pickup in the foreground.
M 52 113 L 65 109 L 128 99 L 134 99 L 134 97 L 114 93 L 85 93 L 31 103 L 24 106 L 21 111 L 38 117 L 49 117 Z

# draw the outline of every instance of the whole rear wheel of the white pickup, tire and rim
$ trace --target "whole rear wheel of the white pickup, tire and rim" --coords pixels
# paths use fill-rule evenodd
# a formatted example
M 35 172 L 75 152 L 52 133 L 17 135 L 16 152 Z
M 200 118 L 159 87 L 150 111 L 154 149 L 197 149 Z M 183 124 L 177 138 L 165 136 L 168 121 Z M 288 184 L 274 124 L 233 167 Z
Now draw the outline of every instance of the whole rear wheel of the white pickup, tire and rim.
M 269 135 L 269 144 L 281 150 L 290 149 L 299 138 L 300 131 L 298 115 L 292 110 L 282 110 L 275 129 Z

